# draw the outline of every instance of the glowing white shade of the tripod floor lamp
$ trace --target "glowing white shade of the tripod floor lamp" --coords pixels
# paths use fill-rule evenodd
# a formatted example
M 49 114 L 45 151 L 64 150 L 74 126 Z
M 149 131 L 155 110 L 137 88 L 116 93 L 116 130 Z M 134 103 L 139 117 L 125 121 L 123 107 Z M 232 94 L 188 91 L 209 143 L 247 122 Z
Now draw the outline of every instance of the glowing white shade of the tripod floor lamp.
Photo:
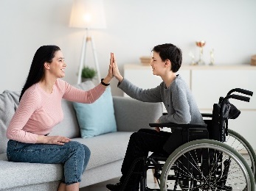
M 73 0 L 69 26 L 104 29 L 106 24 L 103 0 Z

